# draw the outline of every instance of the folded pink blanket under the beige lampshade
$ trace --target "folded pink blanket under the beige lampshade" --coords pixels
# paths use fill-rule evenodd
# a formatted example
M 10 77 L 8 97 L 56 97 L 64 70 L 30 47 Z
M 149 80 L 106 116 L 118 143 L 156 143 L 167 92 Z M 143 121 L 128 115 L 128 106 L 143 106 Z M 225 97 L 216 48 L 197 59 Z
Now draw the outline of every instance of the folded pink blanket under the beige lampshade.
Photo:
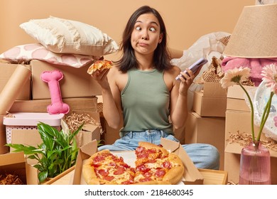
M 261 70 L 265 65 L 271 63 L 277 63 L 277 58 L 233 58 L 226 57 L 222 60 L 222 70 L 226 72 L 233 68 L 245 68 L 251 69 L 250 80 L 254 82 L 255 86 L 259 86 L 261 83 Z

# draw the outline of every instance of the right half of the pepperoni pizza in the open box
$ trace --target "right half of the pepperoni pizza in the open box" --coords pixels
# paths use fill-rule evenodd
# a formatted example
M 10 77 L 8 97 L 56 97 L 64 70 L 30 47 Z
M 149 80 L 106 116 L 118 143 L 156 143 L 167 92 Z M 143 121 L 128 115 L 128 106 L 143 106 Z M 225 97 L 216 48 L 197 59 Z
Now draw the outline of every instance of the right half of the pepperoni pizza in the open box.
M 166 151 L 162 146 L 148 142 L 140 142 L 136 149 L 136 183 L 177 184 L 182 178 L 185 168 L 180 158 Z

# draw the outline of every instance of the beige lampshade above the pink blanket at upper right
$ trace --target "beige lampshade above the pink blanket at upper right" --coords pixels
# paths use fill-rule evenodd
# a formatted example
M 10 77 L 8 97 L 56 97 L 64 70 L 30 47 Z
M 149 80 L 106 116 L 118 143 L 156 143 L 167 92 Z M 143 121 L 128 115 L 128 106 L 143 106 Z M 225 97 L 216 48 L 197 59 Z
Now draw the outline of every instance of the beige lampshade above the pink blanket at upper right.
M 277 58 L 277 4 L 245 6 L 223 54 Z

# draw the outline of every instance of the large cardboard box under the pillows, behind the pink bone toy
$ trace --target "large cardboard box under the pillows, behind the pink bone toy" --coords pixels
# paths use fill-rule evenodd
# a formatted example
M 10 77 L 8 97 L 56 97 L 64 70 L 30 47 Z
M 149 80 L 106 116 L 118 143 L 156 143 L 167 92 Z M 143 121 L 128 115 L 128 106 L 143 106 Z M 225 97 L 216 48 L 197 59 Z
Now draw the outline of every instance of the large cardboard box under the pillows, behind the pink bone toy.
M 40 60 L 31 60 L 32 94 L 33 99 L 51 99 L 47 82 L 40 79 L 45 71 L 60 70 L 63 79 L 59 81 L 60 92 L 63 98 L 91 97 L 101 95 L 101 88 L 97 82 L 87 74 L 89 65 L 82 68 L 72 68 L 65 65 L 55 65 Z

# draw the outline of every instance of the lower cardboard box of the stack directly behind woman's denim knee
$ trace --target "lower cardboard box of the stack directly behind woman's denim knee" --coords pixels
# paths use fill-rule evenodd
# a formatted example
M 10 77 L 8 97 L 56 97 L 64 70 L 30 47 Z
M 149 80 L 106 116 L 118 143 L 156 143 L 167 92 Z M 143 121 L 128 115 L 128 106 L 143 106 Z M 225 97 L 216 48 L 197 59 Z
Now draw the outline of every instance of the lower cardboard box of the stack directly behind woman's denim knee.
M 201 117 L 196 112 L 189 112 L 185 124 L 185 144 L 212 144 L 220 154 L 219 170 L 224 170 L 224 117 Z

